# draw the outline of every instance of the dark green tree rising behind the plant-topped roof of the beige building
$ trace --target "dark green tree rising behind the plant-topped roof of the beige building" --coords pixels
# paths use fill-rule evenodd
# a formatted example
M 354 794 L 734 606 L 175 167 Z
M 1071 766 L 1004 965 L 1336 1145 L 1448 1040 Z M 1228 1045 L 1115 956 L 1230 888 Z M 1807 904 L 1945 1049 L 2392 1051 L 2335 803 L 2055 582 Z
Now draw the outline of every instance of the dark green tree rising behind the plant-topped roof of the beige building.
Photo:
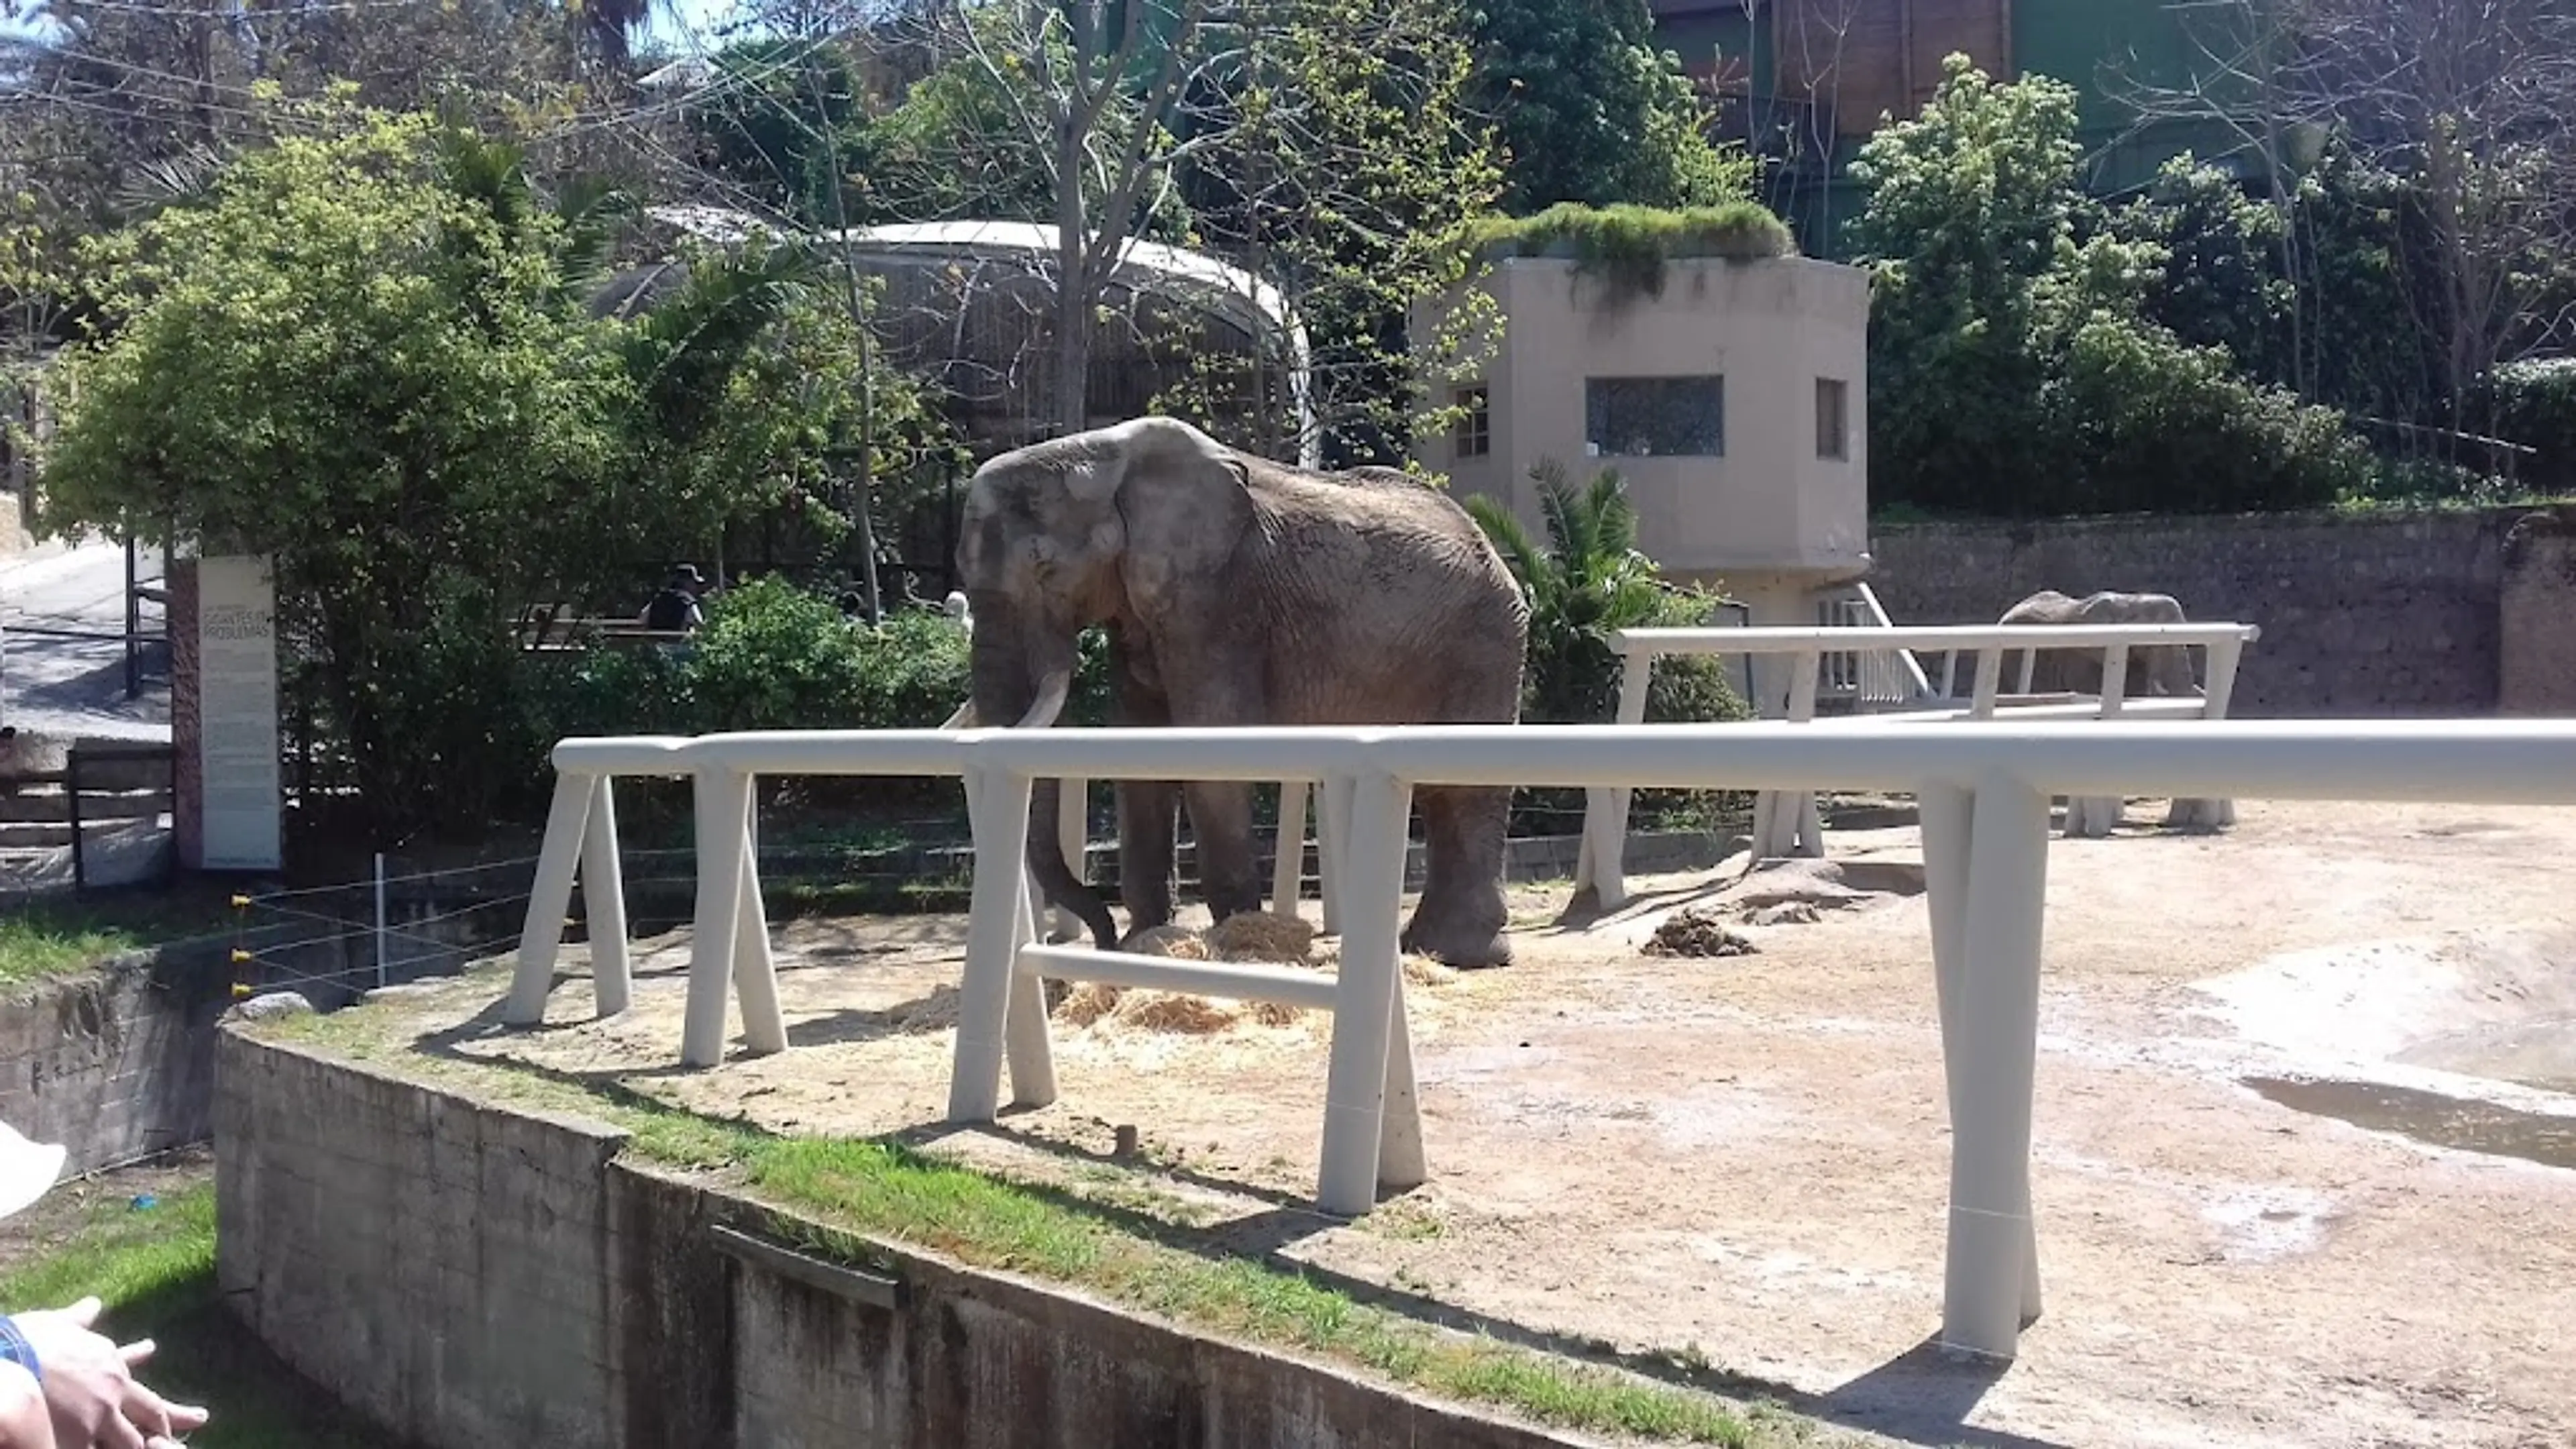
M 1680 59 L 1651 36 L 1646 0 L 1476 0 L 1476 106 L 1502 131 L 1507 211 L 1747 196 L 1752 165 L 1710 144 Z

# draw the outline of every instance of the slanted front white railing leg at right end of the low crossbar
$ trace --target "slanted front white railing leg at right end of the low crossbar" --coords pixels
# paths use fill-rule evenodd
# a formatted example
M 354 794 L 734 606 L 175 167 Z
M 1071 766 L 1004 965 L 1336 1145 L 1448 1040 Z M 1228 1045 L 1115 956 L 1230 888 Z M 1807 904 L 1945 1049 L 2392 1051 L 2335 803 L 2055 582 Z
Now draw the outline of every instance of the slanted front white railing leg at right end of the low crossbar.
M 1412 789 L 1386 773 L 1350 786 L 1342 877 L 1342 969 L 1324 1073 L 1324 1160 L 1316 1207 L 1360 1217 L 1378 1201 L 1388 1036 L 1396 1013 L 1396 933 L 1404 910 L 1404 820 Z

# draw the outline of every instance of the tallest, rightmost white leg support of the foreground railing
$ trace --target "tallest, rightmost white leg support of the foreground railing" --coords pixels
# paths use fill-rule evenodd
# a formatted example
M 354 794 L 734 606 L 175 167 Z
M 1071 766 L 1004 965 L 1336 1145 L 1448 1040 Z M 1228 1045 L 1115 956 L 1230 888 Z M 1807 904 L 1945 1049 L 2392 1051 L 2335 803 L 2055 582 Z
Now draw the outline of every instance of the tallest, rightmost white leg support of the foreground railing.
M 2030 1096 L 2045 895 L 2048 794 L 2002 773 L 1981 779 L 1953 1013 L 1958 1114 L 1950 1124 L 1942 1346 L 1994 1359 L 2014 1356 L 2025 1307 L 2038 1297 Z

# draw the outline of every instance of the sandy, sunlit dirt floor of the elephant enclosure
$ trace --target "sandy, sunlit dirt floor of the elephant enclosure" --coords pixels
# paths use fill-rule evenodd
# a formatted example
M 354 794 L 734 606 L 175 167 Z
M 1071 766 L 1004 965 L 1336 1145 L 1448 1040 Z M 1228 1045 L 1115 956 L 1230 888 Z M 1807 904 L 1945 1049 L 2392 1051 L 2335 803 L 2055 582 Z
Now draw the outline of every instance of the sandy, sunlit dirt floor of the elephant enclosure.
M 1432 1181 L 1355 1225 L 1306 1209 L 1319 1013 L 1198 1031 L 1059 1018 L 1054 1106 L 938 1129 L 961 918 L 788 926 L 793 1049 L 737 1042 L 711 1073 L 675 1070 L 685 931 L 644 944 L 636 1006 L 613 1021 L 590 1018 L 580 949 L 544 1031 L 489 1026 L 497 972 L 399 1011 L 479 1057 L 775 1129 L 914 1132 L 1077 1191 L 1115 1181 L 1113 1129 L 1133 1124 L 1146 1196 L 1244 1250 L 1494 1333 L 1705 1361 L 1909 1441 L 2576 1441 L 2576 1171 L 2244 1085 L 2442 1093 L 2421 1101 L 2486 1114 L 2481 1145 L 2576 1160 L 2576 1096 L 2548 1091 L 2576 1085 L 2576 812 L 2239 815 L 2223 838 L 2161 835 L 2146 828 L 2161 802 L 2133 802 L 2117 838 L 2050 843 L 2048 1307 L 2002 1372 L 1929 1346 L 1950 1132 L 1919 892 L 1741 926 L 1757 954 L 1708 959 L 1638 944 L 1741 861 L 1643 879 L 1587 928 L 1556 926 L 1564 887 L 1515 892 L 1517 964 L 1412 972 Z M 1919 856 L 1914 830 L 1875 830 L 1834 835 L 1832 859 Z

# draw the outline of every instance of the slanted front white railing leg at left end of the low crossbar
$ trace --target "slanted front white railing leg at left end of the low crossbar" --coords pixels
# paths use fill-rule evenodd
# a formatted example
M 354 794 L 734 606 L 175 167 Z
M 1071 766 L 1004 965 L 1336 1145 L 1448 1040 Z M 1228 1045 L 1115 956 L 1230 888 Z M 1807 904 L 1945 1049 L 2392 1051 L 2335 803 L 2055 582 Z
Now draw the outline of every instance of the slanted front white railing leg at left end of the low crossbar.
M 966 908 L 966 967 L 958 975 L 958 1042 L 948 1075 L 948 1122 L 992 1122 L 1002 1106 L 1010 990 L 1028 910 L 1025 773 L 969 768 L 974 895 Z

